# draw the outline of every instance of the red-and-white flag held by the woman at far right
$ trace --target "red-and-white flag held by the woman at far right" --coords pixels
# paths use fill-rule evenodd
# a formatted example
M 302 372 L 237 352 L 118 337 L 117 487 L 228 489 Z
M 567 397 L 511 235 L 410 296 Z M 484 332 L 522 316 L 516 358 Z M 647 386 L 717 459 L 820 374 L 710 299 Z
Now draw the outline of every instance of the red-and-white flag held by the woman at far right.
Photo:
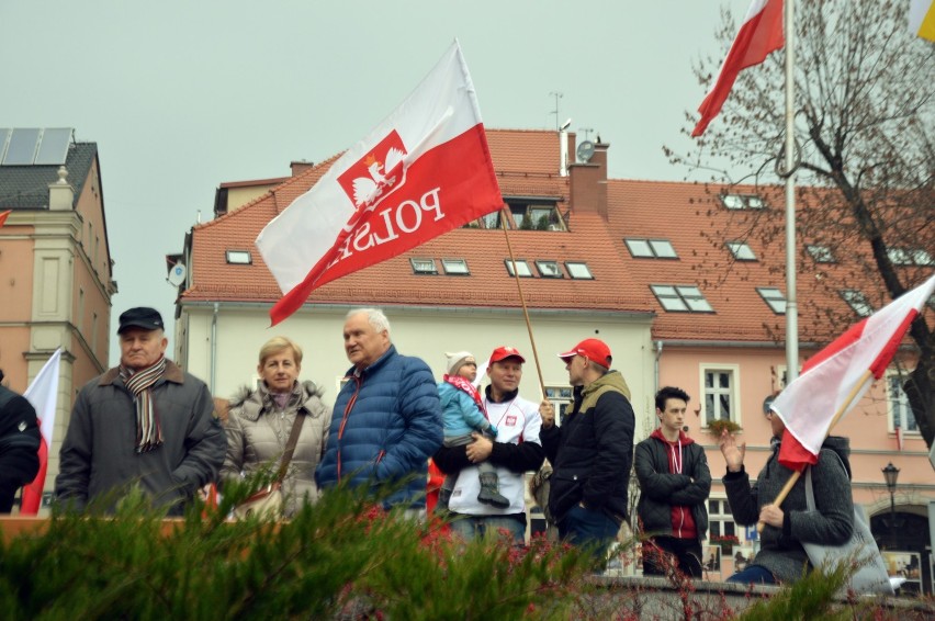
M 874 381 L 883 376 L 933 291 L 935 275 L 855 324 L 806 361 L 802 374 L 770 406 L 786 424 L 779 463 L 800 472 L 818 463 L 837 411 L 847 414 Z

